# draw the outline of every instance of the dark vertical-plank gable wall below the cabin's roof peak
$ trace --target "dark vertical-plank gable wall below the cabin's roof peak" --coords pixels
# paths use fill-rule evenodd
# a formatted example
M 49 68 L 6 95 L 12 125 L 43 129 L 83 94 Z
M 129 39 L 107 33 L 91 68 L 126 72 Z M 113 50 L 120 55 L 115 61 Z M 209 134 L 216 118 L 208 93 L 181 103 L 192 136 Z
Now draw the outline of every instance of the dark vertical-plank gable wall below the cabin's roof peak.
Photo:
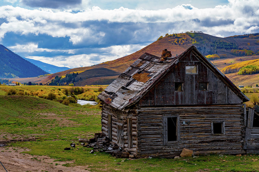
M 186 65 L 197 65 L 198 74 L 185 74 Z M 175 82 L 183 82 L 183 91 L 175 91 Z M 208 82 L 208 90 L 200 91 L 199 82 Z M 242 100 L 191 52 L 139 101 L 148 106 L 235 103 Z

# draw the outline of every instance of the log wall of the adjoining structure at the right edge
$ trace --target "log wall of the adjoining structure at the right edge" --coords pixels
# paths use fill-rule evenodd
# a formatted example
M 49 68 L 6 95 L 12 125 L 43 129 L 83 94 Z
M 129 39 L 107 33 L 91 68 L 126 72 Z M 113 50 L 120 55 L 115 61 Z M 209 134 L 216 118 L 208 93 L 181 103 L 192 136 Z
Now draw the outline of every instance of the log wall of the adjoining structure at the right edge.
M 259 153 L 259 127 L 251 128 L 247 140 L 247 153 Z

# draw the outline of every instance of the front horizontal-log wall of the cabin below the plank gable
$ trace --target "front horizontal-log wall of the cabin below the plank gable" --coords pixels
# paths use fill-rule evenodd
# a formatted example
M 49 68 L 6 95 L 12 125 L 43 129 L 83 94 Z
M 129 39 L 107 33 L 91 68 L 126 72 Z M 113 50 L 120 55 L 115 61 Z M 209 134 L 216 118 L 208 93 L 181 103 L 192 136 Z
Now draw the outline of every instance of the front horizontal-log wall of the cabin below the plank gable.
M 137 113 L 137 152 L 140 156 L 174 157 L 182 148 L 191 149 L 194 154 L 245 153 L 242 150 L 244 117 L 241 104 L 138 107 Z M 179 116 L 180 139 L 164 145 L 163 118 L 169 116 Z M 224 121 L 225 134 L 212 134 L 212 121 Z

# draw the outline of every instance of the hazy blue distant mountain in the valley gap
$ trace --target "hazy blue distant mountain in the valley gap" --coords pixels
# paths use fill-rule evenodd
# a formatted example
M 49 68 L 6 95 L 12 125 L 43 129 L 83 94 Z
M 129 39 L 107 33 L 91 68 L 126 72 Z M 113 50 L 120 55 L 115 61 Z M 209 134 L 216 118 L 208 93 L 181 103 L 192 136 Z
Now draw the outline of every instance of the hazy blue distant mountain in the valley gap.
M 46 71 L 46 72 L 51 73 L 51 74 L 70 69 L 68 67 L 58 67 L 58 66 L 55 66 L 55 65 L 52 65 L 52 64 L 47 64 L 47 63 L 41 62 L 39 60 L 33 60 L 33 59 L 30 59 L 30 58 L 25 58 L 25 57 L 23 57 L 23 58 L 25 60 L 31 62 L 32 64 L 35 64 L 37 67 L 41 68 L 43 71 Z

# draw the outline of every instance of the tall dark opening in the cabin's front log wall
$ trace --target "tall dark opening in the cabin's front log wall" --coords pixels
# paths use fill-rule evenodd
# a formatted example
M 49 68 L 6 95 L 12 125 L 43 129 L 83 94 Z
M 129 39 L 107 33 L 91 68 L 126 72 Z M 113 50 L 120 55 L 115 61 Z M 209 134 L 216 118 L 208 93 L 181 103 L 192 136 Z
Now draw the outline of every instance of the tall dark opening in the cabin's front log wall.
M 167 118 L 167 140 L 177 141 L 177 117 Z

